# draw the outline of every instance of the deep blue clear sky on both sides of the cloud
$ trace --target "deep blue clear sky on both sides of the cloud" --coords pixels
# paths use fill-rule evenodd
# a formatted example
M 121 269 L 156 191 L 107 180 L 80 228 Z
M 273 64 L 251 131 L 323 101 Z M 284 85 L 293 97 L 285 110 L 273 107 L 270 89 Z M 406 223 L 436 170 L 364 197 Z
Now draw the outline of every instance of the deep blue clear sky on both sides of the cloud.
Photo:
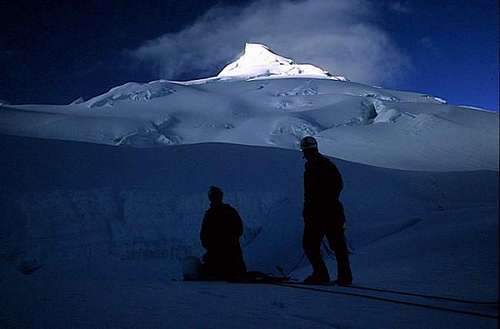
M 3 1 L 0 99 L 65 104 L 128 81 L 158 79 L 157 70 L 133 60 L 128 50 L 190 26 L 214 5 L 249 2 Z M 374 3 L 381 13 L 375 23 L 409 58 L 402 77 L 384 87 L 498 111 L 497 1 Z M 385 10 L 389 6 L 400 14 Z

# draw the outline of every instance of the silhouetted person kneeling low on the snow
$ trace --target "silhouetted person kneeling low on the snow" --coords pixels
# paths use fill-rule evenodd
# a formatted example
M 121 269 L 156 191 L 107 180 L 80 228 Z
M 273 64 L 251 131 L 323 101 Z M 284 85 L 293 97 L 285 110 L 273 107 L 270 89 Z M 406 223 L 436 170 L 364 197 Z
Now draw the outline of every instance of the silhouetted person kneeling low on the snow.
M 223 192 L 216 186 L 208 190 L 210 208 L 201 225 L 201 244 L 207 250 L 203 256 L 202 273 L 208 279 L 233 280 L 246 272 L 240 237 L 243 223 L 230 205 L 223 203 Z

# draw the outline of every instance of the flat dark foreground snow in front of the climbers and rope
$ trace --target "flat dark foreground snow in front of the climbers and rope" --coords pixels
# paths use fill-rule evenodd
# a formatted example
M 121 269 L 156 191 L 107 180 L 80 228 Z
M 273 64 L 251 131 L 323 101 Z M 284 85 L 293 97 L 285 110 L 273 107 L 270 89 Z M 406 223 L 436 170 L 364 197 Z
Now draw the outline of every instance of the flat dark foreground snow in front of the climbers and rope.
M 44 276 L 38 280 L 8 280 L 4 286 L 7 296 L 18 299 L 11 301 L 3 328 L 365 329 L 497 325 L 494 319 L 267 285 Z M 495 307 L 474 309 L 492 314 L 495 311 Z M 5 310 L 1 312 L 5 314 Z

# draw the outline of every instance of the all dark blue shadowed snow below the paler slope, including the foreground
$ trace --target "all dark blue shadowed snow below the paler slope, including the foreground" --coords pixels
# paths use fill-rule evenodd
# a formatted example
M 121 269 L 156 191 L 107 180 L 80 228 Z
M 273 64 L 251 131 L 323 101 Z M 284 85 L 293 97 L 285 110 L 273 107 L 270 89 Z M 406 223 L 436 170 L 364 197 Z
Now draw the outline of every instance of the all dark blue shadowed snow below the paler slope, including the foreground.
M 0 136 L 0 151 L 8 154 L 0 170 L 2 328 L 497 324 L 283 287 L 170 282 L 179 277 L 183 257 L 202 252 L 198 230 L 211 184 L 224 189 L 244 219 L 249 268 L 273 272 L 282 265 L 296 268 L 297 278 L 308 274 L 306 262 L 296 266 L 302 255 L 298 151 L 213 143 L 117 148 L 8 136 Z M 358 284 L 498 300 L 498 171 L 335 162 L 345 180 L 342 200 Z M 41 268 L 21 274 L 35 265 Z

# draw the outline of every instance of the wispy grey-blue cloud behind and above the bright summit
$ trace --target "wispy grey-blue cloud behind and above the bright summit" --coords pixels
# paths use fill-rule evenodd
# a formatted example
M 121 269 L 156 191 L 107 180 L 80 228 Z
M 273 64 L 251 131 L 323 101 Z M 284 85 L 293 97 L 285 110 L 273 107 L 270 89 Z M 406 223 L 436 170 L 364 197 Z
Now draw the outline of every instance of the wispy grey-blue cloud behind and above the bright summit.
M 149 40 L 130 54 L 159 78 L 193 79 L 216 75 L 245 42 L 254 42 L 352 81 L 382 83 L 400 77 L 408 58 L 374 23 L 378 15 L 368 0 L 216 6 L 183 30 Z

